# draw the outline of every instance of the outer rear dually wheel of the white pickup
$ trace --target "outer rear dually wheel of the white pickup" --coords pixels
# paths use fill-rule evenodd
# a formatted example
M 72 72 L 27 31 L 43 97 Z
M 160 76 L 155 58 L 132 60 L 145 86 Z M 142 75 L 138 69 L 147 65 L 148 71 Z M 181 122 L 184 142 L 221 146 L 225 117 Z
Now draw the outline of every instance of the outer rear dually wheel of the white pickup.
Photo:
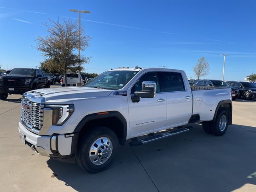
M 222 121 L 223 124 L 220 121 Z M 216 136 L 222 136 L 225 134 L 227 128 L 228 128 L 228 114 L 226 111 L 220 111 L 218 112 L 215 121 L 211 124 L 212 134 Z

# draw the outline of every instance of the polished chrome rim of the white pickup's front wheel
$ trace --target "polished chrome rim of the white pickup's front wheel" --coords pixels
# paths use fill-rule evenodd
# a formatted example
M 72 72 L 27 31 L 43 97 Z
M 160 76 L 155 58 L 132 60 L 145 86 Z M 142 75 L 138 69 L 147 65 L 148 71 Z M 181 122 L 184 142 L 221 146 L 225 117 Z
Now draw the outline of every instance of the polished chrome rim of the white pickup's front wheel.
M 112 142 L 109 138 L 101 137 L 92 143 L 89 151 L 90 161 L 94 165 L 104 164 L 111 156 L 113 150 Z

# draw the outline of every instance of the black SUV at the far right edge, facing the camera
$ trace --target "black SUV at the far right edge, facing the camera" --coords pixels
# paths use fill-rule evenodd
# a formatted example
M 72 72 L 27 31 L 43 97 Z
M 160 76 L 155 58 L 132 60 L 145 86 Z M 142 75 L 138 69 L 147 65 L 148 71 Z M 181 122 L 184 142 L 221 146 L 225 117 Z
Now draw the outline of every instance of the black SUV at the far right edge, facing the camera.
M 227 81 L 227 84 L 239 90 L 240 96 L 244 99 L 256 98 L 256 86 L 250 82 Z

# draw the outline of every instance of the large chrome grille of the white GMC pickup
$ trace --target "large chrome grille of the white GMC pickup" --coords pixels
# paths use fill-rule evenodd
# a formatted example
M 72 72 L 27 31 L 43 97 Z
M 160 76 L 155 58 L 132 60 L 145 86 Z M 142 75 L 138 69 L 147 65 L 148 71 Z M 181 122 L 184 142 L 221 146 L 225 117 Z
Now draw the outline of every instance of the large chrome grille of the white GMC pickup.
M 40 130 L 43 126 L 44 105 L 22 98 L 21 118 L 22 123 L 28 128 Z

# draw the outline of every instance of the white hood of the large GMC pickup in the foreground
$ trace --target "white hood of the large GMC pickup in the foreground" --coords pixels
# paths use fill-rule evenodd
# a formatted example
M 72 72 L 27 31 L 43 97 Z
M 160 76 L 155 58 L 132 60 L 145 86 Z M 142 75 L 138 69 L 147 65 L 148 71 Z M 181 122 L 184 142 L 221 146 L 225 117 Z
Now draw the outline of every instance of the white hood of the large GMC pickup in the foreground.
M 71 103 L 72 100 L 81 100 L 85 98 L 96 98 L 108 96 L 113 90 L 103 90 L 90 87 L 57 87 L 57 88 L 45 88 L 37 89 L 26 92 L 26 96 L 29 100 L 37 103 Z

